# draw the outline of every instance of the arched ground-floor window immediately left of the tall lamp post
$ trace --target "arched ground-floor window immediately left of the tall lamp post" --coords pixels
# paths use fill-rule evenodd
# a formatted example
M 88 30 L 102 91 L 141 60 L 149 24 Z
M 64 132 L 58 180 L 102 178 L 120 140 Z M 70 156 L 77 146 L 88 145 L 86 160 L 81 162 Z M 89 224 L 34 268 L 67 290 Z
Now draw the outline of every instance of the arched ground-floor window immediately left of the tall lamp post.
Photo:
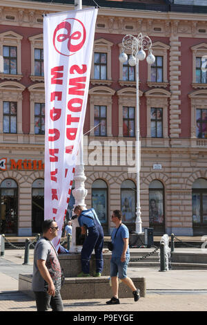
M 136 185 L 132 180 L 121 183 L 121 213 L 124 223 L 135 223 L 136 220 Z

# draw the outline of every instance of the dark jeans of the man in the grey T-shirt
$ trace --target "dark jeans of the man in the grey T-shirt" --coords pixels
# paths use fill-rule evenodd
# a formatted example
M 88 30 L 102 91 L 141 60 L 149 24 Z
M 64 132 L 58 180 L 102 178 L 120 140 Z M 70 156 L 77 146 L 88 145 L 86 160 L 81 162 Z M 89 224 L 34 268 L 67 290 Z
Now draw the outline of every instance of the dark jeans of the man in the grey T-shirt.
M 50 306 L 52 311 L 63 311 L 63 301 L 59 291 L 55 291 L 55 296 L 52 297 L 46 291 L 34 291 L 37 311 L 47 311 Z

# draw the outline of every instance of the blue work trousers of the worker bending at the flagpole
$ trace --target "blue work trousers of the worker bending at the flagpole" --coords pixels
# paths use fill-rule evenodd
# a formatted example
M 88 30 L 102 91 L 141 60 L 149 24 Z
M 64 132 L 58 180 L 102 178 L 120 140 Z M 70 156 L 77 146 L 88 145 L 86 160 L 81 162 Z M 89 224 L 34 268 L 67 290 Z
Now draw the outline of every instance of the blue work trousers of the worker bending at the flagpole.
M 95 250 L 96 272 L 103 270 L 103 228 L 101 225 L 95 225 L 88 228 L 88 236 L 83 243 L 81 250 L 81 266 L 83 273 L 90 273 L 90 257 Z

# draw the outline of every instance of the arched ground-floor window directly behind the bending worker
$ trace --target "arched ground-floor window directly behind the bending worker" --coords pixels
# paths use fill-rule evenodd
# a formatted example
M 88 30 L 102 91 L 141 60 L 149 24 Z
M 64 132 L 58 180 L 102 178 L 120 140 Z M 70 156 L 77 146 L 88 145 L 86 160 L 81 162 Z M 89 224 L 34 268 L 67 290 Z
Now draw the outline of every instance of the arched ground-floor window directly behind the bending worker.
M 104 228 L 108 227 L 108 186 L 104 180 L 98 179 L 92 183 L 92 207 Z M 106 230 L 105 229 L 105 230 Z

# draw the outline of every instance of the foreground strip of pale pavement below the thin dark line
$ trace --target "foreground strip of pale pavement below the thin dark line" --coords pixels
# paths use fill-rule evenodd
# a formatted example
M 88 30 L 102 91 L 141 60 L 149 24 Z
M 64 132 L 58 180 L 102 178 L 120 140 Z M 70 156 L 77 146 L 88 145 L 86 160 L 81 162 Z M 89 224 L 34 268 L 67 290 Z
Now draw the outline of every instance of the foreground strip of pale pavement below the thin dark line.
M 110 296 L 109 296 L 110 299 Z M 164 295 L 148 294 L 136 303 L 133 299 L 120 299 L 121 304 L 106 305 L 106 299 L 64 300 L 63 310 L 76 312 L 129 313 L 139 311 L 206 311 L 207 295 Z M 18 293 L 0 294 L 0 311 L 36 311 L 35 302 L 28 296 Z M 137 319 L 138 320 L 138 319 Z

